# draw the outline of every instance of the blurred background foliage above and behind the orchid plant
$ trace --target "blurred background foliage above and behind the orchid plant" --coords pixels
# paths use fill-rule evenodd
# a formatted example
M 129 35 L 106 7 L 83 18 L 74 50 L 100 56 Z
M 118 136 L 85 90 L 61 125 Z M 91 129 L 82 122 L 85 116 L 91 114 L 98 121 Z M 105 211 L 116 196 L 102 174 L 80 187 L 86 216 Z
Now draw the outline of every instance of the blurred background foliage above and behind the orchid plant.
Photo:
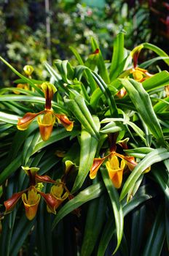
M 70 45 L 87 57 L 91 36 L 105 59 L 111 59 L 114 37 L 121 30 L 126 31 L 128 49 L 152 42 L 168 52 L 168 10 L 166 0 L 0 0 L 1 56 L 20 71 L 33 65 L 35 75 L 46 79 L 44 61 L 76 62 Z M 15 75 L 0 64 L 0 85 L 11 86 L 13 80 Z

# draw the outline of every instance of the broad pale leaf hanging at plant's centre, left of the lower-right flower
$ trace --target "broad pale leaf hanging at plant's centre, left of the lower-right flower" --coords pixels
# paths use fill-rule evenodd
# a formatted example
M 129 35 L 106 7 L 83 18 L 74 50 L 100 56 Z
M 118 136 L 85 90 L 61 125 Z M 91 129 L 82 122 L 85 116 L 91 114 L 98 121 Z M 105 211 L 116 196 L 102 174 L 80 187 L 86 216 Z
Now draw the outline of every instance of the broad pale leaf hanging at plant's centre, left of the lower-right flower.
M 100 128 L 100 122 L 98 117 L 93 117 L 95 124 L 97 124 L 98 129 Z M 72 193 L 76 192 L 84 182 L 90 167 L 93 165 L 93 159 L 95 157 L 95 152 L 98 146 L 98 140 L 93 138 L 86 129 L 82 129 L 80 138 L 80 159 L 79 159 L 79 171 L 74 182 L 74 187 Z

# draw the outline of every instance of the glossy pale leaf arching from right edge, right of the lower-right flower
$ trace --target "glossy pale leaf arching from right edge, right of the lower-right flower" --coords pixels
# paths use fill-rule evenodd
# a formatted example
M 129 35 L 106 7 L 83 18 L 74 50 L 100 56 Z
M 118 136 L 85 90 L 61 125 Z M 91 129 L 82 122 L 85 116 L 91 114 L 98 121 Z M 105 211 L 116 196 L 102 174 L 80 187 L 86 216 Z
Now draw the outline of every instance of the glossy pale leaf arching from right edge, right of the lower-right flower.
M 155 162 L 161 162 L 162 160 L 168 159 L 169 152 L 166 148 L 157 148 L 154 151 L 150 152 L 149 154 L 144 157 L 141 162 L 135 167 L 133 172 L 125 181 L 124 186 L 122 187 L 122 192 L 120 195 L 120 200 L 122 200 L 125 195 L 130 191 L 131 187 L 134 186 L 135 182 L 138 181 L 138 178 L 144 173 L 144 170 L 149 166 L 153 165 Z

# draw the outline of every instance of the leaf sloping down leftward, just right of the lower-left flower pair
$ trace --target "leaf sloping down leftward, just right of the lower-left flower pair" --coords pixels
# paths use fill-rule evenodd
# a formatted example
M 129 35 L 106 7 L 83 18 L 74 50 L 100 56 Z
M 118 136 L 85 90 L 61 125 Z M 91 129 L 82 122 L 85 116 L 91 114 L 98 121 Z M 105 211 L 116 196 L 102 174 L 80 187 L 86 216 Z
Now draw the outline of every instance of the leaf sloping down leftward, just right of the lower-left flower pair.
M 79 192 L 76 197 L 69 200 L 68 203 L 66 203 L 60 211 L 58 211 L 58 214 L 56 214 L 56 217 L 53 221 L 52 228 L 54 228 L 58 222 L 60 222 L 60 219 L 63 219 L 67 214 L 69 214 L 71 211 L 74 211 L 74 209 L 78 208 L 79 206 L 82 206 L 82 204 L 93 200 L 94 198 L 100 197 L 103 192 L 103 184 L 97 183 L 90 187 L 87 187 L 87 189 L 84 189 L 82 192 Z

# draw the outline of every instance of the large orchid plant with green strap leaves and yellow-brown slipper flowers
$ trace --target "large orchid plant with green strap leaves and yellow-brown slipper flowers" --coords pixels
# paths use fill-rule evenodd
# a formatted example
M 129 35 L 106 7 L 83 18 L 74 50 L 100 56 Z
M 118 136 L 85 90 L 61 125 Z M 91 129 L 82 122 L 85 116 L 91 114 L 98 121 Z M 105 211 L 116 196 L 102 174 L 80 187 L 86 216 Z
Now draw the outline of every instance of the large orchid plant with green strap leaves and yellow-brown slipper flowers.
M 67 60 L 45 64 L 50 83 L 20 74 L 0 57 L 19 77 L 15 82 L 29 86 L 0 91 L 1 255 L 168 252 L 169 74 L 146 68 L 168 64 L 169 57 L 146 42 L 125 50 L 122 32 L 111 62 L 95 39 L 91 45 L 85 61 L 71 47 L 75 67 Z M 158 57 L 138 65 L 144 50 Z M 32 113 L 44 115 L 39 127 Z M 54 113 L 61 123 L 54 124 Z M 26 210 L 31 221 L 20 197 L 34 213 Z

